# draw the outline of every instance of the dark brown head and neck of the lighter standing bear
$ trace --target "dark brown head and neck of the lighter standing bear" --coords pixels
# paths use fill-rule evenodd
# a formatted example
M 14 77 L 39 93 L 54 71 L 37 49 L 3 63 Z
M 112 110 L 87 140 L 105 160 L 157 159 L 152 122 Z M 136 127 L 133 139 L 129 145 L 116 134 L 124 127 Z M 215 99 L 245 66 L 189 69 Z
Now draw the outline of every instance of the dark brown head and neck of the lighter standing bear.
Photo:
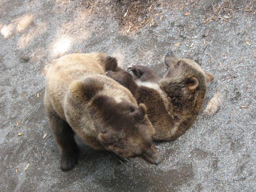
M 93 99 L 90 113 L 98 131 L 99 142 L 108 151 L 120 157 L 141 157 L 158 165 L 162 158 L 152 141 L 155 133 L 146 115 L 144 104 L 131 105 L 116 102 L 113 97 L 98 96 Z

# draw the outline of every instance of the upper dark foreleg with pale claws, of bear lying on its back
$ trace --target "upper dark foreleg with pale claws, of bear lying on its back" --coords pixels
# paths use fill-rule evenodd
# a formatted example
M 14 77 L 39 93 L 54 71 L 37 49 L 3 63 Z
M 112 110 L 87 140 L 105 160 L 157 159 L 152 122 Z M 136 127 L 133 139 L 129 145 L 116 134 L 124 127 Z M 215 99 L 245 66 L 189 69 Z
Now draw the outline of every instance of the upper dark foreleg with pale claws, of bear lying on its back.
M 140 81 L 152 81 L 158 77 L 149 67 L 142 65 L 134 65 L 127 67 L 128 70 L 131 70 L 132 73 L 136 76 L 135 79 L 140 79 Z

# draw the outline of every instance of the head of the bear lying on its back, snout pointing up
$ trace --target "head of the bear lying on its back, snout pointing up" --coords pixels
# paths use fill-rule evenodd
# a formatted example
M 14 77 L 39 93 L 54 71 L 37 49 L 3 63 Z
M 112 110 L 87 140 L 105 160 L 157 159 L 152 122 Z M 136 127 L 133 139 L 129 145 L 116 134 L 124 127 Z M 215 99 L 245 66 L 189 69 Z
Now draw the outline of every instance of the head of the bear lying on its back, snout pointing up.
M 175 96 L 173 99 L 180 102 L 194 100 L 198 94 L 205 94 L 207 84 L 214 79 L 211 73 L 204 73 L 195 61 L 180 58 L 172 51 L 166 53 L 165 64 L 168 72 L 160 81 L 160 87 L 170 98 Z

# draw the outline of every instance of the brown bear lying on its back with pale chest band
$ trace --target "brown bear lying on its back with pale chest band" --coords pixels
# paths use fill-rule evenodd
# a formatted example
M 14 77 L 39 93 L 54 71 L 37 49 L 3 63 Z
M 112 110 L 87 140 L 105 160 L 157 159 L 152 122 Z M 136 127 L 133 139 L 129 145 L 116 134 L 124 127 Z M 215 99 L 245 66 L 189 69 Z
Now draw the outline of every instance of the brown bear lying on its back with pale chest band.
M 195 121 L 207 84 L 214 77 L 204 73 L 194 61 L 182 59 L 172 51 L 167 52 L 165 64 L 168 72 L 163 79 L 140 65 L 128 67 L 135 79 L 120 69 L 106 74 L 127 87 L 138 103 L 145 104 L 155 129 L 153 140 L 171 141 L 185 133 Z

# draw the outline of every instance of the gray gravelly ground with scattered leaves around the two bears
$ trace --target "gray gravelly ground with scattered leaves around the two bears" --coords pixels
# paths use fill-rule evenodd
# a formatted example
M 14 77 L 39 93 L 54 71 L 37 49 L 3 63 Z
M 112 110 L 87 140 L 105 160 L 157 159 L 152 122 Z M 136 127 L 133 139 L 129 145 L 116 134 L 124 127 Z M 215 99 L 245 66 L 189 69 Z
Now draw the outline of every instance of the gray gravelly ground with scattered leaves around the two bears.
M 142 3 L 147 20 L 134 30 L 122 25 L 127 11 L 117 0 L 0 0 L 1 192 L 256 191 L 256 1 Z M 158 143 L 163 162 L 118 165 L 77 138 L 79 163 L 62 172 L 43 105 L 48 67 L 67 53 L 97 51 L 163 76 L 169 49 L 215 80 L 192 128 Z

